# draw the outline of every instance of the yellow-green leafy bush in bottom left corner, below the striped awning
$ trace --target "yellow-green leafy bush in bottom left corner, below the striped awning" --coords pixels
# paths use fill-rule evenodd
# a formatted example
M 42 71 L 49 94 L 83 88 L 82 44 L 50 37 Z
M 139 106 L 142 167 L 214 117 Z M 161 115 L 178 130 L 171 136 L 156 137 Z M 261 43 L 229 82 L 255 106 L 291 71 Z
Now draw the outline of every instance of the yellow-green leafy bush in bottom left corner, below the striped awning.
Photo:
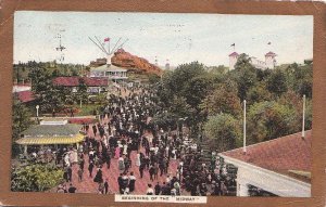
M 63 170 L 50 165 L 28 165 L 12 171 L 11 190 L 43 192 L 63 181 Z

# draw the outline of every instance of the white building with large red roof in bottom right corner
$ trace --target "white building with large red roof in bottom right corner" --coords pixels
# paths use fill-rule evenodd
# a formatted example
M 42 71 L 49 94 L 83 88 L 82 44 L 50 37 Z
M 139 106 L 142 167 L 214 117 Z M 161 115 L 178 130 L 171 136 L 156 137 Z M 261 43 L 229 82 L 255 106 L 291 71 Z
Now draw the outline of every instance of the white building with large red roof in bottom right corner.
M 220 153 L 238 168 L 237 195 L 248 196 L 249 185 L 285 197 L 311 196 L 312 130 L 285 135 L 243 148 Z

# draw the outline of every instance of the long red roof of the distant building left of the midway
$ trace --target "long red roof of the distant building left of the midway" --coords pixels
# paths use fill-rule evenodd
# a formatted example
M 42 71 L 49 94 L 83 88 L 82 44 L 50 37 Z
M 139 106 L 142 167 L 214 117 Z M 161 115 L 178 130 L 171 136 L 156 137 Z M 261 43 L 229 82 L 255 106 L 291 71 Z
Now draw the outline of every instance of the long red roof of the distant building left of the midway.
M 53 83 L 64 87 L 77 87 L 79 86 L 79 79 L 84 79 L 85 85 L 88 87 L 104 87 L 109 85 L 108 78 L 101 77 L 57 77 L 52 80 Z

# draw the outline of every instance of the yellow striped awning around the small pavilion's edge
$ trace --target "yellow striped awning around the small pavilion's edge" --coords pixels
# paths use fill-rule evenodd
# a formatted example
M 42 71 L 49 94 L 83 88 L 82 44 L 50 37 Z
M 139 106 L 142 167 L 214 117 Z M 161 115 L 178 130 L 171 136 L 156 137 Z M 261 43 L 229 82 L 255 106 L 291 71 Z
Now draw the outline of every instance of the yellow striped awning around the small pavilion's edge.
M 22 145 L 75 144 L 82 142 L 84 138 L 85 135 L 82 133 L 77 133 L 73 137 L 27 137 L 21 138 L 16 143 Z

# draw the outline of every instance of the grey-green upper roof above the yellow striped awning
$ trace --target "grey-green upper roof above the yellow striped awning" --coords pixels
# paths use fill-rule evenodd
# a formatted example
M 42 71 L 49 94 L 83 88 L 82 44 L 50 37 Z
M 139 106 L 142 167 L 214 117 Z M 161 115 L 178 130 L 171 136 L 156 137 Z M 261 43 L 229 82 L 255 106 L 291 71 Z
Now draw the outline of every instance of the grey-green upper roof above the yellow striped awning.
M 76 135 L 82 129 L 80 125 L 34 125 L 21 134 L 25 137 L 70 137 Z

